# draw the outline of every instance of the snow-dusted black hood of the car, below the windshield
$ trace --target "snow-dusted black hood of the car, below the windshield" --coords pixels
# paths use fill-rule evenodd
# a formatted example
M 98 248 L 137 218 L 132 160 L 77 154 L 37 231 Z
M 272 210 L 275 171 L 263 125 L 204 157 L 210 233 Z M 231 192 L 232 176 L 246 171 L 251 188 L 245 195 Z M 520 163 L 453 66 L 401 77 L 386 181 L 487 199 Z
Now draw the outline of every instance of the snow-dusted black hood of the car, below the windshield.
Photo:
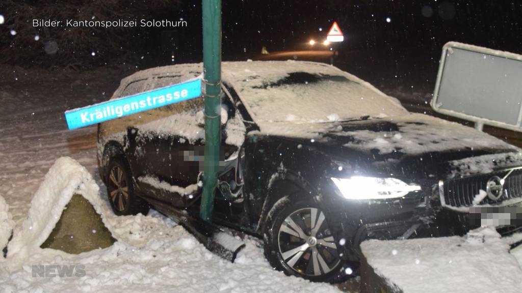
M 480 149 L 522 151 L 487 133 L 424 114 L 333 123 L 272 121 L 262 125 L 260 132 L 264 135 L 343 143 L 361 151 L 377 150 L 379 154 L 416 155 Z

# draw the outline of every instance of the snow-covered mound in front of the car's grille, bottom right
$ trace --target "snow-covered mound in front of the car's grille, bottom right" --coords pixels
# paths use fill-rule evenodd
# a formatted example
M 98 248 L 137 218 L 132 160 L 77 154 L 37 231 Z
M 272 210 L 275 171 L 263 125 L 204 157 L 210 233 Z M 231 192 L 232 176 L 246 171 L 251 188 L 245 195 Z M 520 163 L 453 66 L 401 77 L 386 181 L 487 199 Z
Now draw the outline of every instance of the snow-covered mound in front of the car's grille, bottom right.
M 375 273 L 404 293 L 522 291 L 522 270 L 492 228 L 465 237 L 369 240 L 361 249 Z

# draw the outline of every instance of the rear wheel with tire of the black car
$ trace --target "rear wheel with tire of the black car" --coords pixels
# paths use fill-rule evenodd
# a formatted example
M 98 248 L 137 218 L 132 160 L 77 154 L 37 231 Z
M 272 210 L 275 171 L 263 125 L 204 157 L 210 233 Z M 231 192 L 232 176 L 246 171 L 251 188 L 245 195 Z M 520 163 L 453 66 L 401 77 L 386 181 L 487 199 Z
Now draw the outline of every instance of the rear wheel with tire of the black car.
M 113 212 L 118 216 L 146 215 L 149 205 L 136 195 L 131 168 L 123 155 L 111 158 L 106 175 L 107 196 Z

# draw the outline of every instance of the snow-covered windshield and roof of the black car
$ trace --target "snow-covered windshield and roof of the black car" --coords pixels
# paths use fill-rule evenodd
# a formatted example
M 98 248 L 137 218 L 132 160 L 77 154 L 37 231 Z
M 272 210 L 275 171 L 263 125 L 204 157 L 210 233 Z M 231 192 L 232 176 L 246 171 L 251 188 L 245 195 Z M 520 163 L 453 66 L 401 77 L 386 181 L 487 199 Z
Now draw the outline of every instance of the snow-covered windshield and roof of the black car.
M 156 67 L 123 79 L 122 86 L 154 76 L 177 76 L 177 82 L 182 82 L 200 76 L 202 70 L 201 63 Z M 238 93 L 257 123 L 321 122 L 408 113 L 398 100 L 370 83 L 323 63 L 223 62 L 222 79 Z

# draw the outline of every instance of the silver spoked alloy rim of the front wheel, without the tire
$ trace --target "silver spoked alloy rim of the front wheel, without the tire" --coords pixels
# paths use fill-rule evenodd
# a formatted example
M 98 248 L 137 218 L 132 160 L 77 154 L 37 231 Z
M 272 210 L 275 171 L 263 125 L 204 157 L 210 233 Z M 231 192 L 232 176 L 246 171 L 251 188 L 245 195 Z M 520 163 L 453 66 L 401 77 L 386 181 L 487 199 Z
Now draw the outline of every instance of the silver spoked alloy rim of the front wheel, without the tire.
M 321 210 L 307 207 L 294 211 L 281 223 L 279 253 L 295 272 L 321 276 L 339 264 L 337 246 L 325 219 Z

